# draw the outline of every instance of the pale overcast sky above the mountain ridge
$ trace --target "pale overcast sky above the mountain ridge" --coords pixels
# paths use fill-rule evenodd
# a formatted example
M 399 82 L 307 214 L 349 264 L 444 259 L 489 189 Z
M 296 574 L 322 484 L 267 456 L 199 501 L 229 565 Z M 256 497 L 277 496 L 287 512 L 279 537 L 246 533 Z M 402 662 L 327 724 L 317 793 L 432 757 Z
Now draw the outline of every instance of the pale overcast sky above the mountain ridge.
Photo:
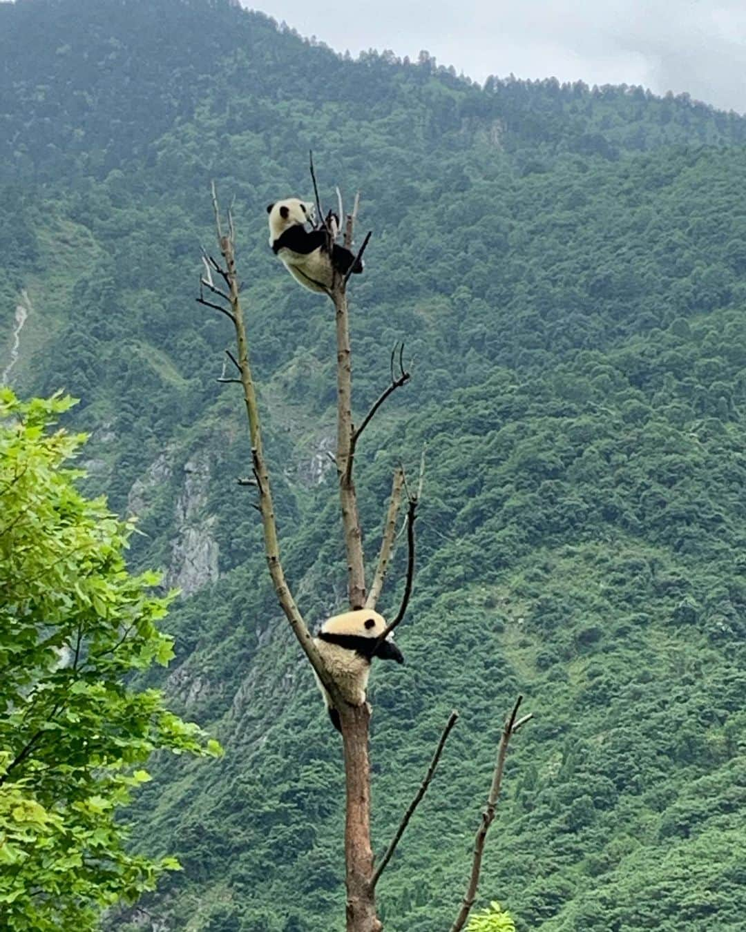
M 746 112 L 746 0 L 264 0 L 337 51 L 391 48 L 487 75 L 642 84 Z

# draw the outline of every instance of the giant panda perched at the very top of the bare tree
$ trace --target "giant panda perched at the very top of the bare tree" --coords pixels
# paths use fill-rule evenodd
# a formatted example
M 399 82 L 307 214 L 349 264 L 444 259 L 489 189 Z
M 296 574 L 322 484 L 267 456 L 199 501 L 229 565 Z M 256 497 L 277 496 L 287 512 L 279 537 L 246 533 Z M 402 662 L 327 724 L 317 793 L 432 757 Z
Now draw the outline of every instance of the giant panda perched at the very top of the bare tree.
M 363 262 L 344 246 L 332 244 L 332 254 L 327 248 L 324 227 L 306 229 L 306 223 L 314 214 L 313 205 L 305 200 L 286 198 L 269 204 L 269 245 L 275 255 L 283 260 L 284 267 L 296 281 L 314 292 L 327 293 L 331 290 L 334 273 L 346 275 L 350 267 L 359 275 Z

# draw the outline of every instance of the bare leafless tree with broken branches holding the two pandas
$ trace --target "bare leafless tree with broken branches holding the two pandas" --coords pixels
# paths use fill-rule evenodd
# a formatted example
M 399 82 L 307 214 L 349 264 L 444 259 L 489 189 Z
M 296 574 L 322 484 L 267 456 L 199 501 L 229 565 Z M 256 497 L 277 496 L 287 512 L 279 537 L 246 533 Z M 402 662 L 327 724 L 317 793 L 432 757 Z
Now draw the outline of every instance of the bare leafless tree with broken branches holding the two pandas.
M 316 185 L 313 163 L 311 160 L 311 179 L 313 181 L 318 217 L 324 217 Z M 269 574 L 275 588 L 283 612 L 297 637 L 300 647 L 305 651 L 311 666 L 325 686 L 326 691 L 339 712 L 342 731 L 344 754 L 344 769 L 346 783 L 346 819 L 345 819 L 345 866 L 347 887 L 347 932 L 380 932 L 382 925 L 376 910 L 376 884 L 380 879 L 394 849 L 416 807 L 421 802 L 430 781 L 435 774 L 435 767 L 448 739 L 449 733 L 458 718 L 453 713 L 441 735 L 435 756 L 431 761 L 425 779 L 418 790 L 413 802 L 410 804 L 402 823 L 397 829 L 394 841 L 389 845 L 378 868 L 374 865 L 373 849 L 370 838 L 370 762 L 368 759 L 368 733 L 370 724 L 370 706 L 352 706 L 342 698 L 333 678 L 327 672 L 324 661 L 316 650 L 308 625 L 298 610 L 297 603 L 285 580 L 283 565 L 280 557 L 277 527 L 275 522 L 272 493 L 269 483 L 269 470 L 264 457 L 261 438 L 261 426 L 256 389 L 251 372 L 249 360 L 249 344 L 243 320 L 239 278 L 236 269 L 235 245 L 236 235 L 232 212 L 228 210 L 223 216 L 217 201 L 213 185 L 214 223 L 217 241 L 222 261 L 213 255 L 204 252 L 202 263 L 204 272 L 200 277 L 200 296 L 198 302 L 207 308 L 213 308 L 225 315 L 233 324 L 236 336 L 237 352 L 234 354 L 227 350 L 229 363 L 235 369 L 235 375 L 227 377 L 225 367 L 221 382 L 236 382 L 242 386 L 246 415 L 249 422 L 251 438 L 253 479 L 241 480 L 242 484 L 256 486 L 258 493 L 258 510 L 261 514 L 264 532 L 265 552 L 269 566 Z M 354 225 L 359 208 L 359 195 L 355 196 L 352 212 L 346 216 L 342 212 L 342 199 L 339 191 L 338 210 L 339 224 L 343 224 L 343 242 L 350 249 L 354 236 Z M 320 219 L 327 237 L 327 245 L 331 251 L 332 244 L 338 238 L 341 228 L 331 212 L 324 220 Z M 387 569 L 394 550 L 396 527 L 401 510 L 403 496 L 407 500 L 406 529 L 408 560 L 407 573 L 404 584 L 404 593 L 394 619 L 388 624 L 381 637 L 386 637 L 401 624 L 405 617 L 409 597 L 412 592 L 415 569 L 415 520 L 417 509 L 421 500 L 422 481 L 424 475 L 424 452 L 421 458 L 421 467 L 417 486 L 412 489 L 408 485 L 404 470 L 399 467 L 394 470 L 392 479 L 391 497 L 385 515 L 383 531 L 380 541 L 380 552 L 370 587 L 366 585 L 366 558 L 363 549 L 363 529 L 357 505 L 357 490 L 354 481 L 354 458 L 361 435 L 372 418 L 380 410 L 381 405 L 402 386 L 406 385 L 410 374 L 404 365 L 404 347 L 394 347 L 390 365 L 390 383 L 380 397 L 370 407 L 370 410 L 355 427 L 352 415 L 352 352 L 350 346 L 349 307 L 347 298 L 347 284 L 358 261 L 366 250 L 370 233 L 366 234 L 363 244 L 358 250 L 355 261 L 346 275 L 334 274 L 331 287 L 327 295 L 335 309 L 335 322 L 337 332 L 337 448 L 335 462 L 338 474 L 339 506 L 341 512 L 342 533 L 345 543 L 347 562 L 347 589 L 351 609 L 375 608 L 380 597 L 383 583 L 386 579 Z M 502 745 L 501 745 L 502 747 Z M 505 745 L 506 750 L 506 745 Z M 502 778 L 502 767 L 500 772 Z M 500 781 L 497 788 L 499 790 Z M 496 793 L 495 793 L 496 798 Z M 492 803 L 492 813 L 494 803 Z M 491 821 L 491 818 L 490 818 Z M 489 827 L 489 824 L 488 824 Z M 486 829 L 485 829 L 486 834 Z M 483 844 L 483 841 L 482 841 Z M 479 864 L 476 865 L 476 879 L 474 889 L 468 895 L 471 902 L 476 895 L 476 880 L 478 879 Z M 474 876 L 474 870 L 473 870 Z M 471 890 L 471 887 L 470 887 Z M 464 904 L 466 900 L 464 899 Z M 463 909 L 462 909 L 463 912 Z M 465 915 L 468 914 L 468 909 Z M 463 925 L 463 922 L 462 922 Z M 454 925 L 459 929 L 462 925 Z

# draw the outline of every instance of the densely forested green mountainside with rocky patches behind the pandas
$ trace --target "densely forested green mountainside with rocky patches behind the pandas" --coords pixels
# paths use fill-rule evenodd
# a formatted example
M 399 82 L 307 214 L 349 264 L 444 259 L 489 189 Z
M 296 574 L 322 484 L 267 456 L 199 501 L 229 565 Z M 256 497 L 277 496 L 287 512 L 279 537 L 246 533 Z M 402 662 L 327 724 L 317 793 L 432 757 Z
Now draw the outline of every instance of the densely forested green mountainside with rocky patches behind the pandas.
M 345 591 L 333 312 L 272 256 L 265 212 L 311 195 L 310 148 L 322 198 L 359 187 L 374 230 L 358 417 L 394 341 L 414 359 L 358 454 L 370 558 L 393 465 L 428 451 L 407 665 L 371 678 L 380 850 L 461 712 L 381 879 L 387 932 L 452 922 L 517 692 L 534 721 L 478 905 L 521 932 L 743 928 L 746 119 L 637 88 L 480 88 L 426 54 L 352 61 L 228 0 L 18 0 L 0 4 L 0 373 L 81 399 L 87 491 L 140 515 L 133 566 L 185 593 L 160 684 L 226 749 L 152 768 L 135 835 L 184 870 L 109 925 L 343 926 L 338 734 L 236 484 L 230 333 L 194 300 L 214 178 L 315 622 Z

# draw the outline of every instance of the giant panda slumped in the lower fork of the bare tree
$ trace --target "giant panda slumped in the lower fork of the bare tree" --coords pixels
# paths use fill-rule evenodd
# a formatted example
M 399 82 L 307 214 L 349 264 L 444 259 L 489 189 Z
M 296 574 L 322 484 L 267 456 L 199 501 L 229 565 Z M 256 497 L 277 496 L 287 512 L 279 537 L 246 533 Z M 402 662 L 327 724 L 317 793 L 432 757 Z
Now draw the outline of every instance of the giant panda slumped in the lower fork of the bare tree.
M 379 640 L 385 630 L 386 621 L 378 611 L 356 609 L 327 618 L 313 637 L 329 675 L 337 683 L 342 697 L 352 706 L 362 706 L 366 701 L 367 678 L 374 657 L 404 663 L 402 652 L 394 644 L 393 634 Z M 341 732 L 339 713 L 331 696 L 318 677 L 316 682 L 324 696 L 329 718 Z

